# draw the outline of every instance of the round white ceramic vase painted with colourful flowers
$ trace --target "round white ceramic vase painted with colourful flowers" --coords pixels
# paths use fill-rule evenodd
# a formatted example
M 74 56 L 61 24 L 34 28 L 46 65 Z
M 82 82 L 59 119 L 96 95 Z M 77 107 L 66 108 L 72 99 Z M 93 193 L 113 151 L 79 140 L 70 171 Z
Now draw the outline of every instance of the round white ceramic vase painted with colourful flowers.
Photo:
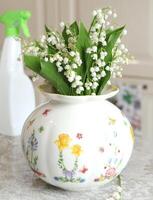
M 33 172 L 54 186 L 79 191 L 104 185 L 127 165 L 134 134 L 124 114 L 100 96 L 47 94 L 26 120 L 22 146 Z

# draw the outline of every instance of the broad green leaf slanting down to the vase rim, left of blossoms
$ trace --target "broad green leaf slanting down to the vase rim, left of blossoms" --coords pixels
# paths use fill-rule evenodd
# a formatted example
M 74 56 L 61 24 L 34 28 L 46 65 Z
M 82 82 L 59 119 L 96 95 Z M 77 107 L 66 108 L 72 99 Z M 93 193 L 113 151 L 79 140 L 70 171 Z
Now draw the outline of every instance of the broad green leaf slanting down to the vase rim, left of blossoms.
M 41 61 L 40 75 L 47 79 L 60 94 L 69 95 L 69 84 L 64 75 L 57 71 L 54 63 Z

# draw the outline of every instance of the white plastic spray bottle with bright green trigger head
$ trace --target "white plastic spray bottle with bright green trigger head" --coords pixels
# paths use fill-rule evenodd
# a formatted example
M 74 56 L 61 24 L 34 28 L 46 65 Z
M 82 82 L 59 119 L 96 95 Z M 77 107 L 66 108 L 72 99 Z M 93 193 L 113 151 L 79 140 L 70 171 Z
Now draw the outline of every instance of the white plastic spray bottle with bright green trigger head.
M 0 133 L 4 135 L 20 135 L 25 119 L 35 108 L 34 88 L 24 73 L 19 38 L 21 30 L 26 37 L 30 36 L 30 16 L 28 11 L 0 16 L 6 34 L 0 59 Z

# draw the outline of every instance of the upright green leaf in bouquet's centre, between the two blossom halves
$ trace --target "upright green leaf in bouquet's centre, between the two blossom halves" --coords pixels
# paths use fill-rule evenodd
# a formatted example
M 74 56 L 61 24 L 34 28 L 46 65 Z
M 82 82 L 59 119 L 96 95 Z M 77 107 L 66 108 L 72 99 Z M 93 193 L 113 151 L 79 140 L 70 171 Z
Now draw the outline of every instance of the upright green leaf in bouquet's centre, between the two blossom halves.
M 85 82 L 89 68 L 91 67 L 92 60 L 89 54 L 86 53 L 86 49 L 90 46 L 91 40 L 89 38 L 88 31 L 86 30 L 84 24 L 81 22 L 76 47 L 83 61 L 82 66 L 77 70 L 77 72 L 82 76 L 83 82 Z

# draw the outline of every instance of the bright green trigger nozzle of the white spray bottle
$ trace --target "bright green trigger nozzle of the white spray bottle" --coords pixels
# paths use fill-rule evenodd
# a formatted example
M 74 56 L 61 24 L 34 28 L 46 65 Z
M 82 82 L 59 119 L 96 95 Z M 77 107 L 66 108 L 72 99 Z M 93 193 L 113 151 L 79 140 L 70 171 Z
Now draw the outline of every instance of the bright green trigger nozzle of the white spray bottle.
M 0 16 L 0 22 L 5 25 L 6 36 L 18 37 L 20 31 L 26 37 L 30 36 L 29 28 L 27 25 L 28 19 L 31 17 L 29 11 L 9 11 Z

